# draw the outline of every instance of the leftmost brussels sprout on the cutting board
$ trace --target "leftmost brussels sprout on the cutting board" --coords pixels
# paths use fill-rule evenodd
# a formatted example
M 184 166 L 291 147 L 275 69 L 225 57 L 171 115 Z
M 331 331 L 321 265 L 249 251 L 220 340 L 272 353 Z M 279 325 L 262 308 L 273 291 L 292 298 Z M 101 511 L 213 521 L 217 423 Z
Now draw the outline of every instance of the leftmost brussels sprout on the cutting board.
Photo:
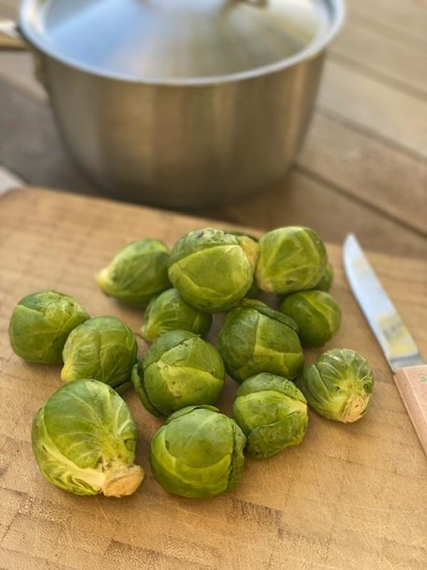
M 68 335 L 88 318 L 85 309 L 63 293 L 38 291 L 27 295 L 11 316 L 11 347 L 24 361 L 60 364 Z

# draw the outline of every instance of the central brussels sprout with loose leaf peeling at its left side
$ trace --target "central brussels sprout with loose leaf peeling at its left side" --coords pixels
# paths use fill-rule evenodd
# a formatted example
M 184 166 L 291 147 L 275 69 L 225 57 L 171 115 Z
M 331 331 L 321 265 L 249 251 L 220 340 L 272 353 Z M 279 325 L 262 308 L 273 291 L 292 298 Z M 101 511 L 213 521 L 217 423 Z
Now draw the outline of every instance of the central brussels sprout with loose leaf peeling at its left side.
M 159 336 L 132 371 L 139 399 L 154 415 L 215 403 L 225 378 L 221 354 L 189 331 Z

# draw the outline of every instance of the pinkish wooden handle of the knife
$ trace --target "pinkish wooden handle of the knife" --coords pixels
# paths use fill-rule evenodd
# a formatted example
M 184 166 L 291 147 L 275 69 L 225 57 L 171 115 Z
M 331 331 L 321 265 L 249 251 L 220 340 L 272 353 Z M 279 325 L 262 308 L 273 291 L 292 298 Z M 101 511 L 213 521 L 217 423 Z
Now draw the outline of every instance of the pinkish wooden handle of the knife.
M 399 368 L 394 381 L 427 455 L 427 364 Z

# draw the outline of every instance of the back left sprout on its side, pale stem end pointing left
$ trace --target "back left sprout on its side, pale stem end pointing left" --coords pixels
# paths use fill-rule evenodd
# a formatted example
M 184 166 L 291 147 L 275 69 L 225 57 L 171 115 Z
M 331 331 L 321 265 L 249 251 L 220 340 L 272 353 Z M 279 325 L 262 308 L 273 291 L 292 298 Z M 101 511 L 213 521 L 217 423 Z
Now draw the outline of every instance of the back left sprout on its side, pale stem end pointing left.
M 159 239 L 139 239 L 127 244 L 96 276 L 110 297 L 144 307 L 171 284 L 167 276 L 169 249 Z

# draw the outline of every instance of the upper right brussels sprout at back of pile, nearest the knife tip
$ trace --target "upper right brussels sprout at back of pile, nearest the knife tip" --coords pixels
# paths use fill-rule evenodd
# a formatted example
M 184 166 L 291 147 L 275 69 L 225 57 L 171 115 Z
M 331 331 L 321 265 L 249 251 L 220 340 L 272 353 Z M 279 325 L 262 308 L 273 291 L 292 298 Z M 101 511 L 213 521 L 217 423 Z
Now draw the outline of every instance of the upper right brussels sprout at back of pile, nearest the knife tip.
M 326 264 L 325 245 L 314 230 L 281 227 L 260 239 L 255 279 L 263 291 L 289 294 L 315 287 Z

